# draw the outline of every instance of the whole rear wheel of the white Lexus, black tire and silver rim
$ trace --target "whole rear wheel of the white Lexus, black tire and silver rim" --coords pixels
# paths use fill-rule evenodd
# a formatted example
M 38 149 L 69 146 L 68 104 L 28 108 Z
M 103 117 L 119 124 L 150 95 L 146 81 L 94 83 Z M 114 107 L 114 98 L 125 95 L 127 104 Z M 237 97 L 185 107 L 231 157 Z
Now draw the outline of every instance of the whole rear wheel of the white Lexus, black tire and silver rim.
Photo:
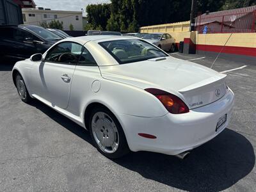
M 90 135 L 93 145 L 109 159 L 117 159 L 129 153 L 124 131 L 115 115 L 104 107 L 90 113 Z

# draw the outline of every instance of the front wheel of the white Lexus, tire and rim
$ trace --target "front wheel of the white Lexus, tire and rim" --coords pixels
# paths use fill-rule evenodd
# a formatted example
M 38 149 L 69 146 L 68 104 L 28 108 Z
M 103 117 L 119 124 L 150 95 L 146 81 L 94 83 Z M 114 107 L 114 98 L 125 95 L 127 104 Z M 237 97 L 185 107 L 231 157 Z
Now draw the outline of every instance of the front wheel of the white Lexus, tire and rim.
M 15 83 L 16 83 L 15 85 L 17 88 L 17 92 L 20 96 L 20 99 L 26 103 L 31 102 L 32 98 L 30 97 L 28 90 L 26 88 L 26 84 L 25 84 L 22 76 L 20 76 L 20 74 L 17 74 L 15 76 Z

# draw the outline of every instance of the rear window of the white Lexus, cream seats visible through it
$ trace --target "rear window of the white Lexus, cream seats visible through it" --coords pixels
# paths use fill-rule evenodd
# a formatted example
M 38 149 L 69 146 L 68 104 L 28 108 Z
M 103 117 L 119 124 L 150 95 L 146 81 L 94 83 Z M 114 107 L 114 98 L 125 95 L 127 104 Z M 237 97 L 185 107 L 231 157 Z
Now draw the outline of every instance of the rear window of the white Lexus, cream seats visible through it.
M 161 49 L 139 39 L 113 40 L 99 44 L 120 64 L 168 56 Z

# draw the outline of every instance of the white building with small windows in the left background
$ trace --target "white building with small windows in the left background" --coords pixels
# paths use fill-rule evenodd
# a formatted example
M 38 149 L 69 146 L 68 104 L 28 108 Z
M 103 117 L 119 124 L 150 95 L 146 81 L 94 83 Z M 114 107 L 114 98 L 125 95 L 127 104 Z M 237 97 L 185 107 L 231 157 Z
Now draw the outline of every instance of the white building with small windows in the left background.
M 69 26 L 74 26 L 74 31 L 83 31 L 83 13 L 70 11 L 55 11 L 44 8 L 22 9 L 24 24 L 40 26 L 40 22 L 59 20 L 63 22 L 63 30 L 69 31 Z

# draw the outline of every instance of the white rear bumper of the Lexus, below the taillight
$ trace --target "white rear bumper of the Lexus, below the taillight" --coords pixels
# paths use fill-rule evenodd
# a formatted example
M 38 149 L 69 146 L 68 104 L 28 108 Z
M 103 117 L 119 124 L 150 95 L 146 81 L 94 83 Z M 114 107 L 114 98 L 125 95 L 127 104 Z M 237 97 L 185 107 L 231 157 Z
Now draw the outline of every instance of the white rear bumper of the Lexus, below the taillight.
M 220 134 L 230 122 L 234 105 L 234 93 L 229 90 L 220 100 L 207 106 L 191 109 L 180 115 L 166 114 L 156 118 L 117 115 L 124 128 L 129 148 L 176 155 L 192 150 Z M 227 122 L 216 131 L 221 116 L 227 114 Z M 143 138 L 138 133 L 156 136 Z

